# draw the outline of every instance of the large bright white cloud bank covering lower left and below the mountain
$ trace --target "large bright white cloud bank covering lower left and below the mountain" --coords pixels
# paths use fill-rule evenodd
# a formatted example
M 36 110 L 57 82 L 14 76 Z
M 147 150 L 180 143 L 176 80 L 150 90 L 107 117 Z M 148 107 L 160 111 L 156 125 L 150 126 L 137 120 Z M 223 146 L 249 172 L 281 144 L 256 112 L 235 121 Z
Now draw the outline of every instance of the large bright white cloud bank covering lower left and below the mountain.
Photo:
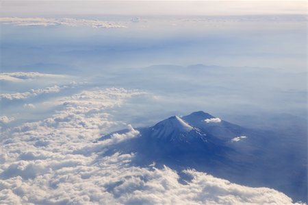
M 0 204 L 292 204 L 268 188 L 250 188 L 185 171 L 187 184 L 164 167 L 133 167 L 134 154 L 106 155 L 110 145 L 138 131 L 97 141 L 102 132 L 125 125 L 111 112 L 140 91 L 106 88 L 57 101 L 53 116 L 2 133 Z

